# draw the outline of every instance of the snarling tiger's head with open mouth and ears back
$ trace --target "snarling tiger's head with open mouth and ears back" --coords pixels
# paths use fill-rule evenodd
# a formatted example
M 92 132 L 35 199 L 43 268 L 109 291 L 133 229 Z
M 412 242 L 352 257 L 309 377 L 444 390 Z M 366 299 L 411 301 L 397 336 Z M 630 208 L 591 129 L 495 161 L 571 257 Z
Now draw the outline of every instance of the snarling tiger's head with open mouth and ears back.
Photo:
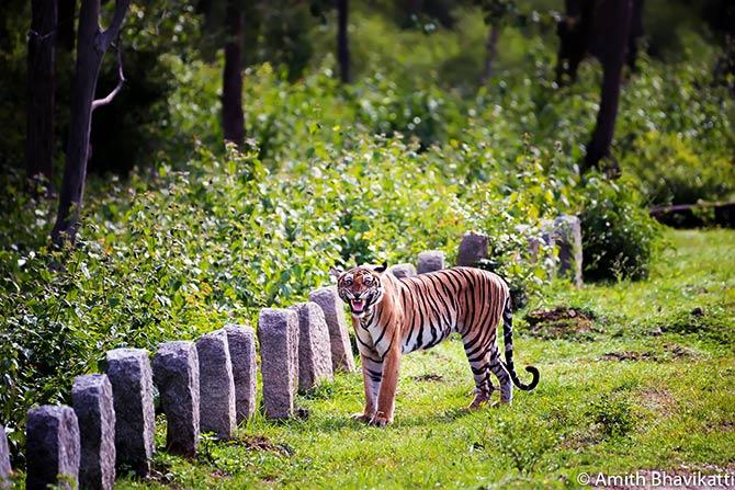
M 330 271 L 337 278 L 339 297 L 350 306 L 354 317 L 364 317 L 383 297 L 381 274 L 387 266 L 387 263 L 383 263 L 383 265 L 360 265 L 344 272 L 338 269 Z

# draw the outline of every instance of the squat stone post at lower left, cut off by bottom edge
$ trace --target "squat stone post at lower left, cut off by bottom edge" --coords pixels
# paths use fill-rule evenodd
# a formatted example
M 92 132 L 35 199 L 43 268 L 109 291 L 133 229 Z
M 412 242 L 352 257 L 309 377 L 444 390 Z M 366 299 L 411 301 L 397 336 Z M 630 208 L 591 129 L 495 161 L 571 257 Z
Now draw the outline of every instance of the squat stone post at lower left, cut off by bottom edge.
M 49 485 L 77 488 L 79 424 L 70 407 L 46 404 L 29 410 L 25 437 L 25 488 L 46 490 Z

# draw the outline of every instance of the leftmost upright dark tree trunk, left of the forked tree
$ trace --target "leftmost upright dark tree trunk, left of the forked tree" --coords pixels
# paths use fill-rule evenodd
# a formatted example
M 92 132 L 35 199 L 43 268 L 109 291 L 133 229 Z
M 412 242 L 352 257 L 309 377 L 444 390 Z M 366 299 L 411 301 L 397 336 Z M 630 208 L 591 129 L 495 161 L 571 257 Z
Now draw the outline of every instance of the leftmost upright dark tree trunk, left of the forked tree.
M 33 0 L 29 33 L 26 178 L 50 182 L 54 168 L 56 0 Z

